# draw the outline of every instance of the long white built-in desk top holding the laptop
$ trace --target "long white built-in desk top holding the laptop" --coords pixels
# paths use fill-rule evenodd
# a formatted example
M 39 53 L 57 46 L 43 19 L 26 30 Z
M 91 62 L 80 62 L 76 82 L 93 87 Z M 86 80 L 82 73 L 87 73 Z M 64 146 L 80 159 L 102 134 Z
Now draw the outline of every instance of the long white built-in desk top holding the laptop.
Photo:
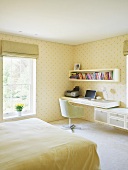
M 88 105 L 93 107 L 100 107 L 104 109 L 120 106 L 120 101 L 113 101 L 113 100 L 103 100 L 103 99 L 89 100 L 81 97 L 78 98 L 62 97 L 62 99 L 68 100 L 69 102 L 72 103 L 83 104 L 83 105 Z

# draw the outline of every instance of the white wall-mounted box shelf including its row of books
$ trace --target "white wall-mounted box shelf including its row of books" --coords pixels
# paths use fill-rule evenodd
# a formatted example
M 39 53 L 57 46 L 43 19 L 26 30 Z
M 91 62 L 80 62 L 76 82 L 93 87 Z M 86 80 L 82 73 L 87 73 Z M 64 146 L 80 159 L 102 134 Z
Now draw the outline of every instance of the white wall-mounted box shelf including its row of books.
M 114 69 L 95 69 L 95 70 L 70 70 L 70 81 L 100 81 L 100 82 L 119 82 L 120 70 Z

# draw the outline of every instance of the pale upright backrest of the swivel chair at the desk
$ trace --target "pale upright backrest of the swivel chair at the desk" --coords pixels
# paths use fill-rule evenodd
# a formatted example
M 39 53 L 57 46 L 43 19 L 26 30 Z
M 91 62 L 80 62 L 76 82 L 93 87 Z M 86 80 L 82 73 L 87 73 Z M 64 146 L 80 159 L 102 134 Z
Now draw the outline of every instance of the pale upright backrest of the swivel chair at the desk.
M 67 100 L 63 100 L 63 99 L 59 99 L 59 103 L 60 103 L 60 109 L 61 109 L 61 114 L 64 117 L 69 117 L 69 112 L 68 112 L 68 101 Z

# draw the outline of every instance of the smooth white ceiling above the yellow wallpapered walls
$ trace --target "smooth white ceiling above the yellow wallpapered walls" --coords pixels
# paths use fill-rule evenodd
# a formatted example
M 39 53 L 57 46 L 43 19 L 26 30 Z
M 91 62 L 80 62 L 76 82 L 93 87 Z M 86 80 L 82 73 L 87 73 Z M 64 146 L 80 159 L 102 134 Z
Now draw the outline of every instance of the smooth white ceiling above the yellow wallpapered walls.
M 0 32 L 70 45 L 128 34 L 128 0 L 0 0 Z

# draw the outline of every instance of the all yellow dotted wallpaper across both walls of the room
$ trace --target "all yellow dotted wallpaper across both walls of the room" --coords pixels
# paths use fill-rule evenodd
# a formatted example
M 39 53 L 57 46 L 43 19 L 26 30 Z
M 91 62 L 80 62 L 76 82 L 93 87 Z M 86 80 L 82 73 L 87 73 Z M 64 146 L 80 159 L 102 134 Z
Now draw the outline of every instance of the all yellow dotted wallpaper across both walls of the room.
M 58 43 L 0 34 L 0 39 L 39 45 L 37 59 L 37 116 L 47 122 L 62 119 L 58 98 L 66 89 L 79 85 L 81 94 L 86 89 L 96 89 L 100 94 L 107 91 L 104 97 L 121 101 L 126 106 L 126 58 L 123 56 L 123 42 L 128 35 L 104 39 L 100 41 L 70 46 Z M 70 82 L 68 72 L 80 63 L 81 69 L 119 68 L 119 83 L 105 82 Z M 93 107 L 85 106 L 85 119 L 93 121 Z

